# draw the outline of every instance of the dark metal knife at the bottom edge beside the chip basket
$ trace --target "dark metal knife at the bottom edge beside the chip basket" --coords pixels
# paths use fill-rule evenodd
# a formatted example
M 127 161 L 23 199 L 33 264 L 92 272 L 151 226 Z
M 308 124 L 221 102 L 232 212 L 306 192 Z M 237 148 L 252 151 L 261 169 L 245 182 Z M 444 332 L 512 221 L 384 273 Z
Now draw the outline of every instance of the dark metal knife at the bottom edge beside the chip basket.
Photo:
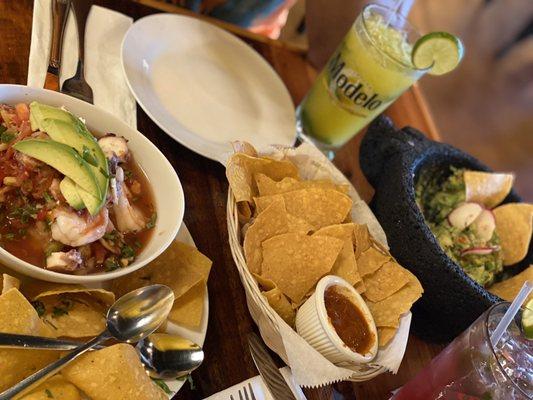
M 248 335 L 248 345 L 250 346 L 250 353 L 255 366 L 272 397 L 276 400 L 297 400 L 259 336 L 255 333 L 250 333 Z

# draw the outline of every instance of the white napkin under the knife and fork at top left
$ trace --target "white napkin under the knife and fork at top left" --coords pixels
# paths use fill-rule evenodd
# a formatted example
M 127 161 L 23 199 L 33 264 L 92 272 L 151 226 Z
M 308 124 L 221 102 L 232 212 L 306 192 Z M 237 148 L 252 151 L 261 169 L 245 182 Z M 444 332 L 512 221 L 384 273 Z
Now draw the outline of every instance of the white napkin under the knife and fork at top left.
M 51 0 L 35 0 L 31 31 L 28 86 L 43 87 L 51 40 Z M 94 104 L 136 128 L 136 105 L 122 71 L 122 39 L 132 18 L 93 6 L 85 35 L 85 78 L 93 89 Z M 63 37 L 60 81 L 72 77 L 78 61 L 78 36 L 70 13 Z

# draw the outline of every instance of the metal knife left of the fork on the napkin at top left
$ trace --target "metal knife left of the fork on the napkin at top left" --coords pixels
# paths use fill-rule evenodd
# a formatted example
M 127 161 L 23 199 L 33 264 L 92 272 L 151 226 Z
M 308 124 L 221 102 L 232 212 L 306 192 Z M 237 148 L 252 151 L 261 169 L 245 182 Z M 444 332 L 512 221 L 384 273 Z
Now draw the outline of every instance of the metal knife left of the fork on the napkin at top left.
M 52 40 L 50 59 L 44 80 L 44 88 L 59 92 L 59 72 L 61 68 L 61 49 L 63 32 L 70 11 L 70 0 L 52 0 Z

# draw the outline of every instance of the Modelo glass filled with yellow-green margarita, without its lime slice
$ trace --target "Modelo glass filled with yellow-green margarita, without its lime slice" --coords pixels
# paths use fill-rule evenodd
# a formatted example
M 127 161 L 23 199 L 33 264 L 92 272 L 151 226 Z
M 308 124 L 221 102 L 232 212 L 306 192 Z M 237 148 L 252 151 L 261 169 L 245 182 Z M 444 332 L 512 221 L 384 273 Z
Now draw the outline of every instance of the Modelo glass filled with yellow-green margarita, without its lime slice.
M 335 150 L 387 108 L 427 71 L 411 62 L 415 35 L 398 13 L 365 7 L 298 107 L 300 135 Z

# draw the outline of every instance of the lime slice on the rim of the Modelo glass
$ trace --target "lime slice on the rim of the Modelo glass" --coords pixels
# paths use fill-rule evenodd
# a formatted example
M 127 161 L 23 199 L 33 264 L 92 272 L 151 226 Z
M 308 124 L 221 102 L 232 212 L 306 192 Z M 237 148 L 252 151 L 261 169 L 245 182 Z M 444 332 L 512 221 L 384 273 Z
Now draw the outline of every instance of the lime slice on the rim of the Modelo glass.
M 418 39 L 411 58 L 417 68 L 431 68 L 430 75 L 453 71 L 463 58 L 464 48 L 458 37 L 447 32 L 431 32 Z

